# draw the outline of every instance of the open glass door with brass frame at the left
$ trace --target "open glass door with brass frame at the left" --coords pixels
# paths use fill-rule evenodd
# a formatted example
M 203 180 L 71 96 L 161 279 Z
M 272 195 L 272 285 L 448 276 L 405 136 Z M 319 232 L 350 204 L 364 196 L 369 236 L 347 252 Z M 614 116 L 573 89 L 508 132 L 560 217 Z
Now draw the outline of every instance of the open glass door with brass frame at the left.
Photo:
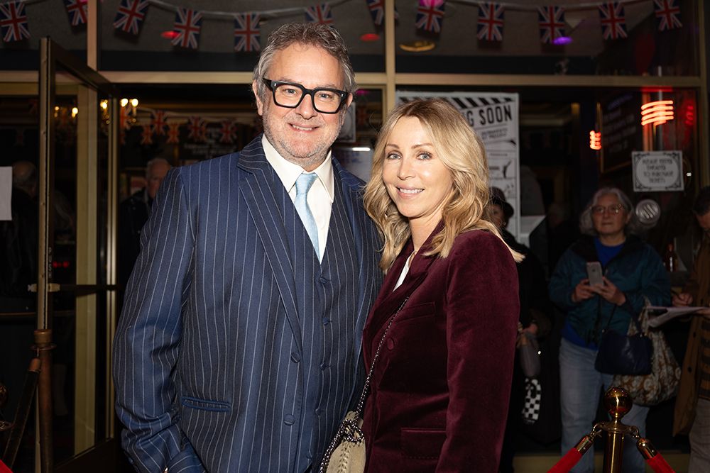
M 38 87 L 35 458 L 43 472 L 112 471 L 118 94 L 48 38 Z

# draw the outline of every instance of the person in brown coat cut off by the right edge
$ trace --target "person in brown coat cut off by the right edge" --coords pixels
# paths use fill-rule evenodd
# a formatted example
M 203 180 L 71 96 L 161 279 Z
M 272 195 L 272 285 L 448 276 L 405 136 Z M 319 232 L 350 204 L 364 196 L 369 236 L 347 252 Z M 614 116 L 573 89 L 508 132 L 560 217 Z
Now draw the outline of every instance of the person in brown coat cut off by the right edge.
M 703 232 L 693 271 L 674 306 L 710 306 L 710 186 L 698 193 L 693 213 Z M 689 473 L 710 472 L 710 308 L 692 316 L 675 400 L 673 435 L 690 436 Z

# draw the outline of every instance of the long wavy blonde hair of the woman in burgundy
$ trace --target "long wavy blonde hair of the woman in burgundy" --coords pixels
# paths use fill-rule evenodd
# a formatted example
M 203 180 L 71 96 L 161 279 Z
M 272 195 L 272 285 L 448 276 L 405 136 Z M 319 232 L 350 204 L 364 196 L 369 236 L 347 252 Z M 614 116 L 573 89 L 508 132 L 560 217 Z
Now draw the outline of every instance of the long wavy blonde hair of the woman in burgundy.
M 490 198 L 488 162 L 481 139 L 449 102 L 443 99 L 410 101 L 391 111 L 383 124 L 375 146 L 370 182 L 365 187 L 365 209 L 385 242 L 380 260 L 384 272 L 392 266 L 411 235 L 408 219 L 399 213 L 382 181 L 385 146 L 393 128 L 403 117 L 419 119 L 438 150 L 437 157 L 452 174 L 453 188 L 442 209 L 444 228 L 435 235 L 426 255 L 447 257 L 454 239 L 469 230 L 487 230 L 501 238 L 498 228 L 486 220 L 486 205 Z M 508 249 L 515 261 L 522 260 L 520 253 Z

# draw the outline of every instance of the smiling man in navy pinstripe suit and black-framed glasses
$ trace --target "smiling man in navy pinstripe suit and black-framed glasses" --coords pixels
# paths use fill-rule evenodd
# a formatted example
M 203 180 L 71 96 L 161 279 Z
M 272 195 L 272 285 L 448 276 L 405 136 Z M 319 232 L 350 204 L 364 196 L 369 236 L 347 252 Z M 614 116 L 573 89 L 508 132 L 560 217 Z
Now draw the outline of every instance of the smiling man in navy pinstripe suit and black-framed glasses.
M 380 242 L 330 157 L 354 88 L 335 30 L 284 25 L 254 70 L 263 137 L 165 177 L 114 342 L 139 471 L 310 471 L 359 394 Z

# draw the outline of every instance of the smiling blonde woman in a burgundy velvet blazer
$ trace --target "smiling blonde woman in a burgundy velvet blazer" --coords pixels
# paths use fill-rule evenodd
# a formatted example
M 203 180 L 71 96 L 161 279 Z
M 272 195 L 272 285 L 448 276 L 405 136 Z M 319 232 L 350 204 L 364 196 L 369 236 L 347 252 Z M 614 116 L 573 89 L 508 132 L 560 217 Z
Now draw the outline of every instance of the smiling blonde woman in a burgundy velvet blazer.
M 383 340 L 364 411 L 367 472 L 498 470 L 520 255 L 484 219 L 487 202 L 483 145 L 453 106 L 391 112 L 365 193 L 386 272 L 363 334 L 368 370 Z

